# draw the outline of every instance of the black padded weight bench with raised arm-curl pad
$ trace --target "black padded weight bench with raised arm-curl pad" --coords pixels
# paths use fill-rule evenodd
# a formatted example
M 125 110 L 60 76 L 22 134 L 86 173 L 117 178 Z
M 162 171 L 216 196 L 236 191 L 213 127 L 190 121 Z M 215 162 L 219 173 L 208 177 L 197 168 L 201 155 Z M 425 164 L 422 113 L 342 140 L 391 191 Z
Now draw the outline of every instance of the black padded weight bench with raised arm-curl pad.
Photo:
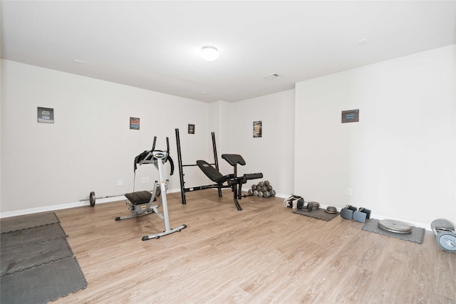
M 245 165 L 245 160 L 239 154 L 222 154 L 222 158 L 225 159 L 229 164 L 233 166 L 233 174 L 223 175 L 217 169 L 212 167 L 211 164 L 204 160 L 197 160 L 197 165 L 199 169 L 206 174 L 212 182 L 217 183 L 217 187 L 220 188 L 231 188 L 233 192 L 234 204 L 237 207 L 237 210 L 241 211 L 242 207 L 239 205 L 238 199 L 242 199 L 242 184 L 245 184 L 249 179 L 261 179 L 263 177 L 262 173 L 251 173 L 244 174 L 241 177 L 237 176 L 237 164 L 242 166 Z M 227 186 L 224 183 L 227 183 Z

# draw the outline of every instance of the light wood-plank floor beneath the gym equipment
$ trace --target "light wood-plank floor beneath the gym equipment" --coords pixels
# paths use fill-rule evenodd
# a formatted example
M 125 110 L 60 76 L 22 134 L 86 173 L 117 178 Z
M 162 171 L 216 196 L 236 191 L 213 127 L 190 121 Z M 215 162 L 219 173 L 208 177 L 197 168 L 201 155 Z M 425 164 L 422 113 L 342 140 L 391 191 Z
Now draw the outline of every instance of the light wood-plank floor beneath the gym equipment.
M 283 199 L 168 194 L 171 226 L 124 201 L 56 211 L 88 288 L 54 303 L 456 303 L 456 254 L 293 214 Z

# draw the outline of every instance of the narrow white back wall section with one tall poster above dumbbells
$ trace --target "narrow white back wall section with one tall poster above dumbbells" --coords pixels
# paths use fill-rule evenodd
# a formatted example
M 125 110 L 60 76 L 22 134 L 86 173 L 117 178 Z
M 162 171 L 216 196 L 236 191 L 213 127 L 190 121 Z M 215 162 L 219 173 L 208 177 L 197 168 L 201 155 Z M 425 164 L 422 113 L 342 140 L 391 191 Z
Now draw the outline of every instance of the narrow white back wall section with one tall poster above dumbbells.
M 269 180 L 279 196 L 289 196 L 294 187 L 294 90 L 232 103 L 229 130 L 231 150 L 241 154 L 246 165 L 238 173 L 262 172 L 263 179 L 248 181 L 245 189 Z M 253 137 L 253 122 L 262 122 L 262 137 Z M 298 151 L 299 152 L 299 151 Z

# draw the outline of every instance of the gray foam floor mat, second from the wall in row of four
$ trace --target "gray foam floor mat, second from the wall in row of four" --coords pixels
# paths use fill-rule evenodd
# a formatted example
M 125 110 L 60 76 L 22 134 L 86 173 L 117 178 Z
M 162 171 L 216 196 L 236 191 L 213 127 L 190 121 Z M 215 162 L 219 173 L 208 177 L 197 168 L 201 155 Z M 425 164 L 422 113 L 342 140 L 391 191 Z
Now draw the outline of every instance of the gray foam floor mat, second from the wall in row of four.
M 1 251 L 66 237 L 59 223 L 5 232 L 0 236 Z

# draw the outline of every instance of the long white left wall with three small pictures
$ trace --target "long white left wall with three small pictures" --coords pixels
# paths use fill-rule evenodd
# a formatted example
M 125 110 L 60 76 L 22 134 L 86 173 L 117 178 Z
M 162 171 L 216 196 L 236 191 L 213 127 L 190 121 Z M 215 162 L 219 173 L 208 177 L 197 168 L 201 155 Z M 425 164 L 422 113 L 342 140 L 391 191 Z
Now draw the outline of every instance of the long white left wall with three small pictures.
M 37 107 L 53 108 L 55 123 L 38 123 Z M 1 61 L 1 214 L 78 202 L 90 191 L 132 192 L 133 159 L 150 150 L 154 136 L 162 150 L 170 137 L 176 164 L 170 189 L 178 190 L 175 128 L 184 163 L 207 158 L 207 116 L 207 103 Z M 130 117 L 140 117 L 140 130 L 129 129 Z M 195 135 L 187 134 L 189 123 Z M 137 171 L 136 189 L 152 189 L 141 177 L 153 182 L 157 170 Z M 197 174 L 192 182 L 200 180 Z

